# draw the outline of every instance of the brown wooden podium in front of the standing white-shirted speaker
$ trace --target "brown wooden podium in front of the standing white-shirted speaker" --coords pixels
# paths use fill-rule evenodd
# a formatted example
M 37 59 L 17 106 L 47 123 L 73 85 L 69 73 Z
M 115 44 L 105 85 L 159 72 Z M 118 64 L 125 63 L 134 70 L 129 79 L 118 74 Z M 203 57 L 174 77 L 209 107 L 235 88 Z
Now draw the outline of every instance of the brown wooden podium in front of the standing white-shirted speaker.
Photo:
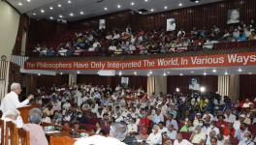
M 35 107 L 36 108 L 41 108 L 41 104 L 31 103 L 30 105 L 26 105 L 26 106 L 17 108 L 17 110 L 20 112 L 20 116 L 21 116 L 24 124 L 28 123 L 28 112 L 29 112 L 29 110 L 31 110 L 32 108 L 35 108 Z

